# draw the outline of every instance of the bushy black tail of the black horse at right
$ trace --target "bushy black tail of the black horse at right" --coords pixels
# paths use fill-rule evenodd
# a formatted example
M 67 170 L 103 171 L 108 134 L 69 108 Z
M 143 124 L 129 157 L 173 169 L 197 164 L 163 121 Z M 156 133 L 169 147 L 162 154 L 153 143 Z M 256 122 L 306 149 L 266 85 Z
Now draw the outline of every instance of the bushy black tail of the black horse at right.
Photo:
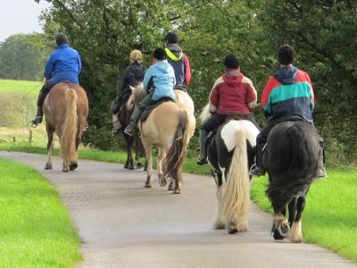
M 314 157 L 316 154 L 305 131 L 300 126 L 293 125 L 286 130 L 286 136 L 290 139 L 291 161 L 286 172 L 272 180 L 266 190 L 274 207 L 287 204 L 292 197 L 307 190 L 317 168 L 317 159 Z

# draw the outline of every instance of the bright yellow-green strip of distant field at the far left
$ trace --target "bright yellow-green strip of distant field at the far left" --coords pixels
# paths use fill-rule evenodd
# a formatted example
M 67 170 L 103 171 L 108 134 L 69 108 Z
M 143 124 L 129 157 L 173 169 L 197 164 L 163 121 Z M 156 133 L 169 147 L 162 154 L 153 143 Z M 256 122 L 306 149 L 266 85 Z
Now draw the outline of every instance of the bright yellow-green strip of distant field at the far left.
M 37 96 L 41 87 L 42 81 L 0 80 L 0 92 Z

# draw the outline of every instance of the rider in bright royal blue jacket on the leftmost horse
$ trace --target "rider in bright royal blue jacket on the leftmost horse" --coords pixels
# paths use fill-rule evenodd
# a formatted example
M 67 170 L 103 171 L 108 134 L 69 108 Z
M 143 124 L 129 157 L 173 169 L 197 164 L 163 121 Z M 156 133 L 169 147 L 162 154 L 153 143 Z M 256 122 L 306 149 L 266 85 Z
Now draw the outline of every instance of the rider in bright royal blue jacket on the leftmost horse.
M 45 97 L 55 84 L 62 81 L 68 81 L 79 85 L 79 73 L 82 69 L 82 63 L 77 50 L 68 45 L 67 37 L 60 33 L 55 38 L 56 48 L 46 62 L 45 79 L 46 83 L 41 88 L 37 98 L 37 115 L 32 120 L 32 124 L 37 126 L 42 121 Z

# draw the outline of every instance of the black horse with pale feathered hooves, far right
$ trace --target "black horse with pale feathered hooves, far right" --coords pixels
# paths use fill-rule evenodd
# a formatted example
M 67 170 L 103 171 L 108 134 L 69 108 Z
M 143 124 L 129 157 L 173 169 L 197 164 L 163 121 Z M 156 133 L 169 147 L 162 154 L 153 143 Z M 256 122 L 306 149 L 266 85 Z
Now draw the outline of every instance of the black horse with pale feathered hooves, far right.
M 289 237 L 292 242 L 303 242 L 303 208 L 320 154 L 319 135 L 307 122 L 285 121 L 270 131 L 263 160 L 270 180 L 266 193 L 275 215 L 274 239 Z

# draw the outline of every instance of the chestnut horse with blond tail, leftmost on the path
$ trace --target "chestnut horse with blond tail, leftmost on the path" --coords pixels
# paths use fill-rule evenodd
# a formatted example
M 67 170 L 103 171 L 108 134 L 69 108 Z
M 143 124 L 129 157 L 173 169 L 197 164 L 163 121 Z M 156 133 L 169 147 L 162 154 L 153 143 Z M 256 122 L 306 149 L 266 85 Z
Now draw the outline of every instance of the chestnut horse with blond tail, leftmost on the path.
M 46 96 L 43 110 L 46 117 L 48 159 L 46 170 L 52 169 L 51 156 L 54 148 L 54 132 L 60 138 L 62 172 L 78 167 L 77 149 L 86 127 L 88 100 L 86 91 L 78 85 L 59 83 Z

